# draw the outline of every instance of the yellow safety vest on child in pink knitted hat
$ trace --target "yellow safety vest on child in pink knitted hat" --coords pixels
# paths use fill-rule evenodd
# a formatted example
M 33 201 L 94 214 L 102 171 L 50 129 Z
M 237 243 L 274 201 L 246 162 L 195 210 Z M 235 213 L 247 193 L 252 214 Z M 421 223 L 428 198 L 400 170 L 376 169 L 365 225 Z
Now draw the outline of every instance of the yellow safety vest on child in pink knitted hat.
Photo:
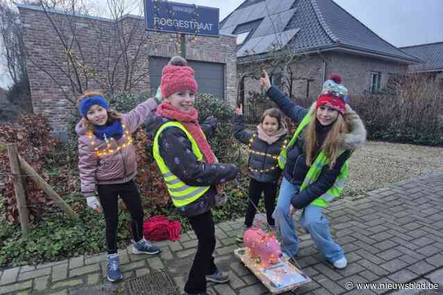
M 201 153 L 197 143 L 194 141 L 194 138 L 192 138 L 192 135 L 181 123 L 176 121 L 167 122 L 161 125 L 156 132 L 153 143 L 154 159 L 156 159 L 157 165 L 162 172 L 163 178 L 165 179 L 166 187 L 169 195 L 171 196 L 172 203 L 176 207 L 182 207 L 194 202 L 196 199 L 199 199 L 199 197 L 204 195 L 209 190 L 210 186 L 187 186 L 187 184 L 176 177 L 176 175 L 172 174 L 171 170 L 169 170 L 169 168 L 166 166 L 165 161 L 163 161 L 162 157 L 160 156 L 158 136 L 167 127 L 178 127 L 185 132 L 187 139 L 189 139 L 191 142 L 192 152 L 194 153 L 195 157 L 197 157 L 197 161 L 203 160 L 203 154 Z

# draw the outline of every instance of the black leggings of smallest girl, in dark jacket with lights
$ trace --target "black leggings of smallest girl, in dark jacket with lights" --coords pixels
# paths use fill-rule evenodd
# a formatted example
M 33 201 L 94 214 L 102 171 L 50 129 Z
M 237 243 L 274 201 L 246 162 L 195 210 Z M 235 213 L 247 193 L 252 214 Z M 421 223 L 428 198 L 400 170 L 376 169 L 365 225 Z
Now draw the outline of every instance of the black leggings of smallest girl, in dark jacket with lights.
M 267 223 L 271 226 L 275 225 L 274 218 L 272 218 L 272 213 L 274 213 L 277 197 L 277 184 L 260 182 L 256 181 L 256 179 L 251 179 L 249 184 L 249 199 L 251 200 L 248 200 L 248 208 L 246 209 L 246 216 L 244 217 L 244 225 L 247 227 L 252 226 L 257 212 L 256 207 L 258 207 L 258 202 L 260 201 L 262 192 L 265 193 Z M 254 205 L 256 205 L 256 207 L 251 204 L 251 201 Z

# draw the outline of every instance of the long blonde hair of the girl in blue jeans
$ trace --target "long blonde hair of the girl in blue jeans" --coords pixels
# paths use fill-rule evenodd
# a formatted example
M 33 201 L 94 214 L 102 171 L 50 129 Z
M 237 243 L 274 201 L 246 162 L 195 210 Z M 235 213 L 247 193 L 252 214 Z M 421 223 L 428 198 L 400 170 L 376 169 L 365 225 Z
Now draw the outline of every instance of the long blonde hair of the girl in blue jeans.
M 312 166 L 315 161 L 317 154 L 314 154 L 315 143 L 317 143 L 317 132 L 315 131 L 315 125 L 317 122 L 317 108 L 312 108 L 310 111 L 310 121 L 306 129 L 305 136 L 305 150 L 306 150 L 306 165 L 308 167 Z M 321 145 L 321 150 L 326 153 L 326 157 L 329 159 L 329 168 L 333 168 L 335 165 L 335 160 L 339 156 L 340 145 L 342 143 L 342 138 L 340 134 L 349 133 L 349 119 L 347 114 L 342 115 L 338 113 L 337 119 L 333 123 L 331 130 L 329 130 L 323 144 Z

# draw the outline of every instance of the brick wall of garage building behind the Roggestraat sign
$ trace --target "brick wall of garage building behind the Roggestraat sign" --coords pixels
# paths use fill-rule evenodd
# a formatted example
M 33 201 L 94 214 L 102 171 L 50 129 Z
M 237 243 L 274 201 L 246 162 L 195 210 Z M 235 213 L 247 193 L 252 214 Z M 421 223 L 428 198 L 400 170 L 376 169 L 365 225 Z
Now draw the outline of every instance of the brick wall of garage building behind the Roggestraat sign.
M 29 6 L 19 6 L 19 13 L 24 26 L 24 44 L 28 51 L 33 109 L 35 114 L 47 116 L 55 134 L 65 134 L 69 115 L 77 111 L 73 101 L 76 101 L 80 89 L 72 89 L 70 80 L 80 81 L 77 84 L 81 84 L 82 91 L 99 89 L 108 93 L 128 89 L 128 82 L 133 81 L 131 92 L 149 94 L 149 56 L 172 57 L 178 54 L 176 34 L 147 32 L 144 20 L 139 17 L 124 17 L 114 22 L 49 13 L 57 27 L 61 28 L 58 33 L 64 36 L 68 44 L 73 44 L 71 51 L 78 57 L 81 68 L 85 69 L 85 74 L 77 77 L 68 70 L 67 55 L 63 53 L 58 33 L 47 15 Z M 73 27 L 76 39 L 73 38 Z M 128 64 L 134 64 L 130 73 L 125 71 L 125 59 L 121 57 L 122 47 L 119 46 L 116 30 L 122 30 L 126 38 L 132 35 L 132 30 L 136 32 L 128 46 Z M 235 101 L 235 37 L 199 36 L 191 42 L 187 36 L 186 51 L 189 60 L 225 64 L 226 100 Z M 113 80 L 107 79 L 112 75 L 115 77 Z

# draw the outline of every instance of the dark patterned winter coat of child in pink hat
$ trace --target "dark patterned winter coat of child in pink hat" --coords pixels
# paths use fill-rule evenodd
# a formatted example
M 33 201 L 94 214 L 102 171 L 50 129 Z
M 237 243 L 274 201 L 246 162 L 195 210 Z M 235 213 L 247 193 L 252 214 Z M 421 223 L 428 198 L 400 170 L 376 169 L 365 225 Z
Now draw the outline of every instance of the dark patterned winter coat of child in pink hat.
M 161 125 L 169 121 L 161 116 L 156 116 L 151 120 L 145 122 L 146 131 L 153 140 L 156 136 L 157 130 Z M 207 120 L 201 124 L 201 129 L 205 133 L 206 137 L 210 135 L 213 129 L 215 129 L 216 121 L 213 118 L 207 118 Z M 206 163 L 205 161 L 197 161 L 197 157 L 190 152 L 192 150 L 192 144 L 187 138 L 186 134 L 178 127 L 169 127 L 164 129 L 160 136 L 158 136 L 159 152 L 165 164 L 171 172 L 183 181 L 188 186 L 210 186 L 210 189 L 196 201 L 191 204 L 187 204 L 180 208 L 180 213 L 185 216 L 192 216 L 194 212 L 201 211 L 201 201 L 207 199 L 211 206 L 214 206 L 215 195 L 217 190 L 215 186 L 222 184 L 225 181 L 235 179 L 239 172 L 237 166 L 233 164 L 224 163 Z M 205 204 L 206 206 L 206 204 Z M 210 206 L 206 206 L 205 210 L 201 213 L 205 213 L 210 209 Z

